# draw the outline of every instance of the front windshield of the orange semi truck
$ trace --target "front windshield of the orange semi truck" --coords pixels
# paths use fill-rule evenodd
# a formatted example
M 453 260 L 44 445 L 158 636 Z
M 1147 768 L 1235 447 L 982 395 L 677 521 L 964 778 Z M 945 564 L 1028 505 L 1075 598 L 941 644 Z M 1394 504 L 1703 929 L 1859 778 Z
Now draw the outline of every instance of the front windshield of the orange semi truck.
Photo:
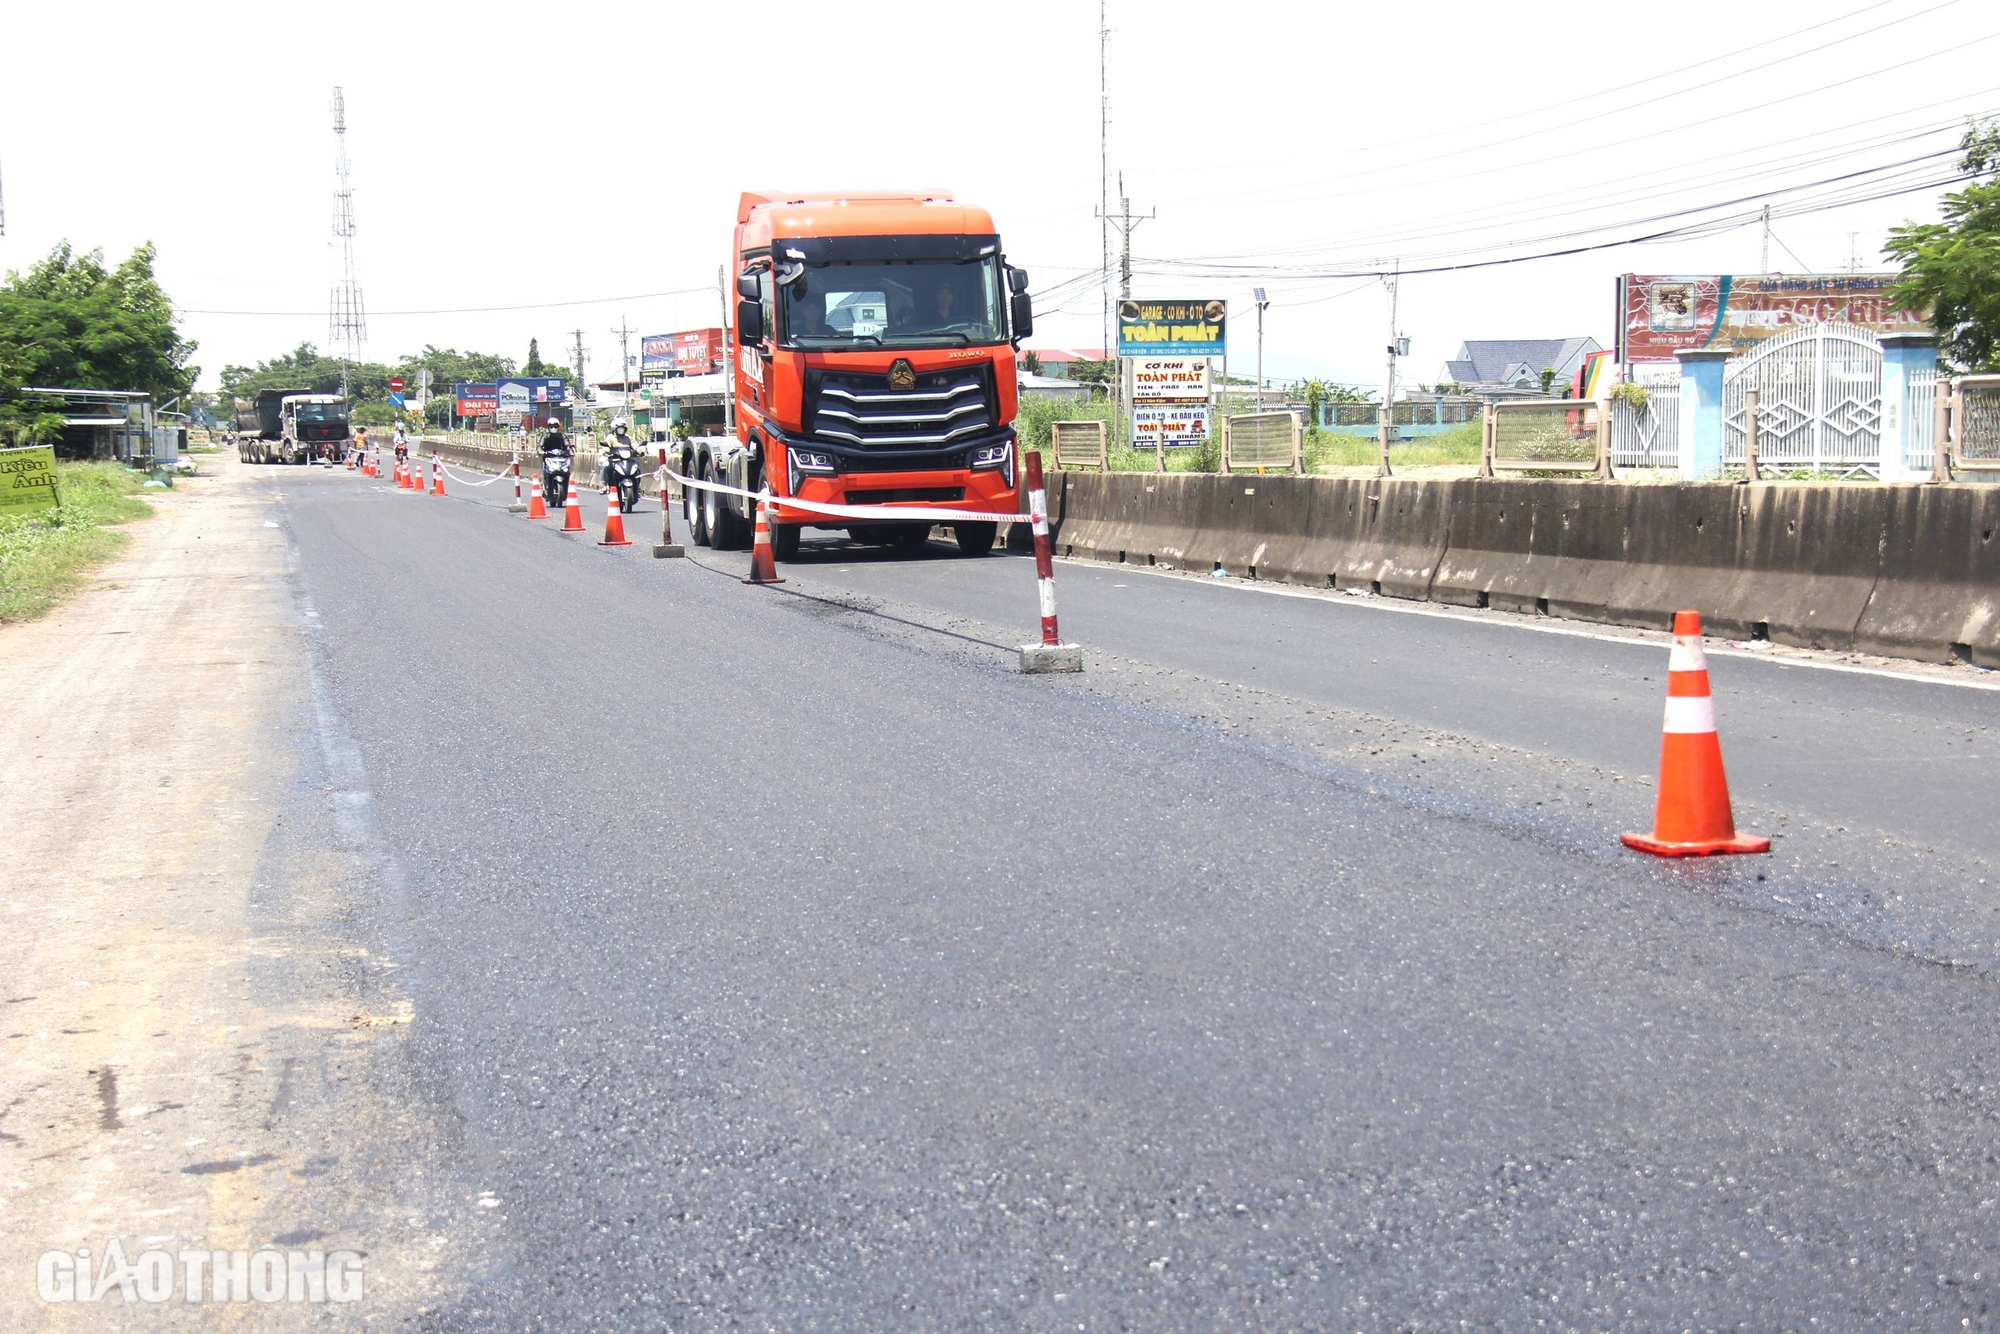
M 792 348 L 924 348 L 1006 342 L 1000 260 L 808 264 L 778 288 Z

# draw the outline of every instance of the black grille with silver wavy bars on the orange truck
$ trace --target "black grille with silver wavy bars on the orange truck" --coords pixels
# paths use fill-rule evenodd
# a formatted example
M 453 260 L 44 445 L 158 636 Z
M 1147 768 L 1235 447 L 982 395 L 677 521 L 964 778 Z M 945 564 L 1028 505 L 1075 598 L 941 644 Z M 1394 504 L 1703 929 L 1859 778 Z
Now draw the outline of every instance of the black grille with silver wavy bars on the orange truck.
M 806 434 L 844 450 L 934 450 L 992 430 L 996 416 L 990 362 L 924 372 L 908 390 L 886 374 L 806 372 Z

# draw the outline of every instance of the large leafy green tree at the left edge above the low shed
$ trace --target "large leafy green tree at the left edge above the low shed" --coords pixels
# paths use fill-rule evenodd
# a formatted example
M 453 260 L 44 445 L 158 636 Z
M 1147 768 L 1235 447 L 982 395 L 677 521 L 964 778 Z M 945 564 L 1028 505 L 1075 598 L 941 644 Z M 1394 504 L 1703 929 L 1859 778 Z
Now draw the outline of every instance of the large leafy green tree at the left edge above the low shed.
M 142 390 L 156 404 L 194 388 L 196 344 L 174 326 L 174 306 L 152 272 L 148 242 L 118 268 L 70 242 L 0 284 L 0 434 L 52 440 L 62 418 L 24 400 L 20 386 Z

